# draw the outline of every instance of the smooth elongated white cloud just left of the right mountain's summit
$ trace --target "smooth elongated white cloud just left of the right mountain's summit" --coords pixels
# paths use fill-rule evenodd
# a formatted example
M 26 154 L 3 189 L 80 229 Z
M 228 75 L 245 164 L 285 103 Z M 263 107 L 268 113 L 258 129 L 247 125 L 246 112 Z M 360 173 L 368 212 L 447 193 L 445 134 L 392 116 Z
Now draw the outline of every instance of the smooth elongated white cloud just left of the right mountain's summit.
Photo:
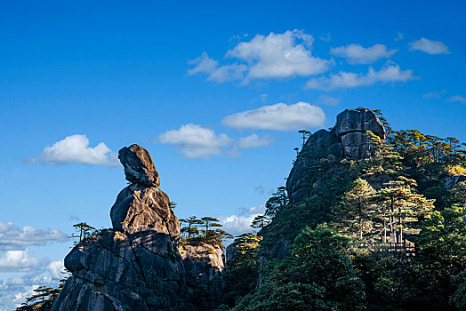
M 325 113 L 306 102 L 278 103 L 226 116 L 221 123 L 238 129 L 294 131 L 322 126 Z

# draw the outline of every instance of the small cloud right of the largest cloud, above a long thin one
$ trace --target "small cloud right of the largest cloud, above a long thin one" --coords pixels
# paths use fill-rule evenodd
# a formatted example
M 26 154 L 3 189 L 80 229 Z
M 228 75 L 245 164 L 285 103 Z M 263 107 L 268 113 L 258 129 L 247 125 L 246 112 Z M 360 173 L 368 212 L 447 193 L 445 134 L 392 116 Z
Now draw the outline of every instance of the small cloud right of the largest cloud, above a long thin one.
M 350 44 L 331 48 L 330 52 L 339 57 L 346 58 L 350 64 L 372 64 L 380 59 L 390 59 L 398 50 L 388 50 L 383 44 L 374 44 L 365 48 L 360 44 Z

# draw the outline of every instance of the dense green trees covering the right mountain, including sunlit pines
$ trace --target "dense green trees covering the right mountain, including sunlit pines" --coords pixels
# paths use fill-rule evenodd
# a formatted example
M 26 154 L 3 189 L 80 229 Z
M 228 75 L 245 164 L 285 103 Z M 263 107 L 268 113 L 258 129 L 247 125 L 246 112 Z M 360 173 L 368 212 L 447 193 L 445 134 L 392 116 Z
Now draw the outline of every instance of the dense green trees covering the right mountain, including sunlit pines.
M 229 292 L 229 308 L 466 309 L 466 181 L 448 184 L 466 173 L 466 145 L 385 128 L 385 142 L 366 133 L 365 160 L 299 154 L 313 187 L 299 203 L 280 202 L 279 189 L 273 212 L 255 219 L 260 245 L 239 248 L 241 265 L 227 263 L 237 275 L 229 288 L 241 289 Z M 289 256 L 273 259 L 284 242 Z M 257 286 L 247 276 L 260 258 L 269 262 Z

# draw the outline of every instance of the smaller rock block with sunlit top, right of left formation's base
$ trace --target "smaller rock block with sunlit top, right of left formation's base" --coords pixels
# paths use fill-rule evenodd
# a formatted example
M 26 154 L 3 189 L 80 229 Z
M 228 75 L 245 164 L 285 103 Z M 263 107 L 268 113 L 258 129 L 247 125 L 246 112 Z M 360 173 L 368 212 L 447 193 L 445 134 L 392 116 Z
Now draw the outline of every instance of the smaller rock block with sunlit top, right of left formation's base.
M 223 251 L 220 246 L 195 242 L 180 248 L 186 270 L 188 299 L 192 306 L 212 310 L 220 301 L 226 287 Z

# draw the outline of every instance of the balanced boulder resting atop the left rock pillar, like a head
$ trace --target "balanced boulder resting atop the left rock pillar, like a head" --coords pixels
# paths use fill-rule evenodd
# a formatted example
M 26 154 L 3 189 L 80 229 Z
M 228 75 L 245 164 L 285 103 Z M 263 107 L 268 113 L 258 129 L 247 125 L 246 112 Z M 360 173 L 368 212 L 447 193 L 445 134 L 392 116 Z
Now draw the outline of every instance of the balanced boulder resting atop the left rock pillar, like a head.
M 147 187 L 160 186 L 158 172 L 148 150 L 133 144 L 120 149 L 118 159 L 125 167 L 125 177 L 129 182 Z

